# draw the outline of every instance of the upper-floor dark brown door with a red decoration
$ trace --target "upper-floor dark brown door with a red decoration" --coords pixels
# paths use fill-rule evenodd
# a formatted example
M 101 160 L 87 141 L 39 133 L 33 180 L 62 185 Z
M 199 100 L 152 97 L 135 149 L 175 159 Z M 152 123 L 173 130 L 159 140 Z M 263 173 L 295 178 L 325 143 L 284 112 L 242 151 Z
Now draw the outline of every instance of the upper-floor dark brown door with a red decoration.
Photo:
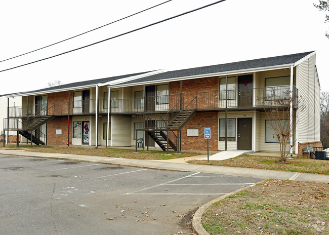
M 253 75 L 242 75 L 237 77 L 238 82 L 238 107 L 253 105 Z

